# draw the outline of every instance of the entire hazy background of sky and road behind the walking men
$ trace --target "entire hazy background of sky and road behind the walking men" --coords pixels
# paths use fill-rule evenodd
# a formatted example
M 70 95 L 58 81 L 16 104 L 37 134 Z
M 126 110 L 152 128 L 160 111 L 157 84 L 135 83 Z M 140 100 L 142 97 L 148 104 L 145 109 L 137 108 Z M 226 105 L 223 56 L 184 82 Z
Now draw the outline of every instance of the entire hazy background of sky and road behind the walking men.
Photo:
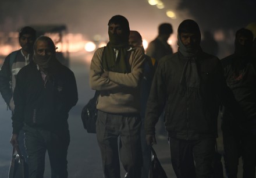
M 184 19 L 193 19 L 200 26 L 202 40 L 204 31 L 212 33 L 218 42 L 217 56 L 220 59 L 233 52 L 234 33 L 248 23 L 256 22 L 256 0 L 162 0 L 162 5 L 164 7 L 159 9 L 157 5 L 150 5 L 148 0 L 0 0 L 0 66 L 5 56 L 16 50 L 11 48 L 11 40 L 16 42 L 15 48 L 20 48 L 17 33 L 12 35 L 20 27 L 37 24 L 67 26 L 70 69 L 76 76 L 79 92 L 79 102 L 69 116 L 69 177 L 102 177 L 97 139 L 95 134 L 86 133 L 80 119 L 81 109 L 94 94 L 88 84 L 88 66 L 94 51 L 86 52 L 84 44 L 95 41 L 95 37 L 107 42 L 107 24 L 112 16 L 125 16 L 130 29 L 139 31 L 148 42 L 157 36 L 160 23 L 171 23 L 174 30 L 170 37 L 173 51 L 177 50 L 177 27 Z M 168 17 L 167 10 L 171 10 L 175 16 Z M 11 128 L 10 111 L 6 111 L 6 104 L 0 97 L 0 178 L 7 177 L 10 166 Z M 219 140 L 221 136 L 219 134 Z M 175 177 L 170 168 L 167 141 L 158 140 L 154 147 L 168 177 Z M 219 144 L 219 151 L 222 150 L 222 144 Z M 241 168 L 239 173 L 241 175 Z M 44 177 L 50 175 L 47 160 Z

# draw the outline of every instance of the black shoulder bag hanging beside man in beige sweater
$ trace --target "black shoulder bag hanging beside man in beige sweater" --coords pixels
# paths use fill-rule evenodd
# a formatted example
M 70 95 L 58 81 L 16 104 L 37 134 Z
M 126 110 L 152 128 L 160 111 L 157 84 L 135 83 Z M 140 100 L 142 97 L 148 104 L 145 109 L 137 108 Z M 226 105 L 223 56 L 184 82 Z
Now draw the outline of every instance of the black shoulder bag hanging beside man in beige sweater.
M 97 101 L 99 97 L 99 91 L 95 91 L 94 97 L 84 106 L 81 112 L 81 119 L 84 125 L 84 129 L 88 133 L 96 133 L 96 120 L 97 120 Z

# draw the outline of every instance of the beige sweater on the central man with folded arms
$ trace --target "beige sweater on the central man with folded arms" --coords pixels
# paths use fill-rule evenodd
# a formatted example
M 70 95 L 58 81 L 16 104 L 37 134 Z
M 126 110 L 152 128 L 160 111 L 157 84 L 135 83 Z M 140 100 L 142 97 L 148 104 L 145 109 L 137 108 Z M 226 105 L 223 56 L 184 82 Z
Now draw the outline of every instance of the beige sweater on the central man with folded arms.
M 114 49 L 112 48 L 114 51 Z M 140 48 L 126 49 L 129 73 L 109 70 L 109 77 L 101 77 L 103 48 L 95 51 L 91 61 L 90 86 L 101 91 L 97 109 L 109 113 L 140 113 L 140 81 L 143 76 L 143 52 Z M 127 70 L 128 71 L 128 70 Z

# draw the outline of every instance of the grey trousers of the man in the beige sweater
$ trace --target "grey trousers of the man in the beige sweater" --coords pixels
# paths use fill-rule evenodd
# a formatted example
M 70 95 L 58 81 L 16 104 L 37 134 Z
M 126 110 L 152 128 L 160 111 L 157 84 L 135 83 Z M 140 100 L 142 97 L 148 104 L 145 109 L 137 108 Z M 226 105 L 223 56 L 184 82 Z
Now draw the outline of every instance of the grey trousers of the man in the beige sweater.
M 114 115 L 98 111 L 96 133 L 105 178 L 120 178 L 120 161 L 126 177 L 141 176 L 141 119 L 139 115 Z M 118 149 L 119 138 L 119 149 Z

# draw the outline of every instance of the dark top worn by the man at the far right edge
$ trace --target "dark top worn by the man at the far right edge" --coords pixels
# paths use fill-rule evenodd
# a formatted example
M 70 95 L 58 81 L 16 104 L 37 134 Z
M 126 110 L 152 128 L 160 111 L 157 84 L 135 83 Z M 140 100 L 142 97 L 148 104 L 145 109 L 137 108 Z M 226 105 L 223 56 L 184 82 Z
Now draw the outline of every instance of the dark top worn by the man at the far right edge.
M 235 64 L 236 61 L 240 63 Z M 244 129 L 254 127 L 256 130 L 256 64 L 255 59 L 237 58 L 230 55 L 221 60 L 227 86 L 232 90 L 234 97 L 243 109 L 246 118 L 241 118 Z M 235 67 L 236 65 L 236 67 Z M 232 119 L 229 111 L 223 108 L 223 121 Z

